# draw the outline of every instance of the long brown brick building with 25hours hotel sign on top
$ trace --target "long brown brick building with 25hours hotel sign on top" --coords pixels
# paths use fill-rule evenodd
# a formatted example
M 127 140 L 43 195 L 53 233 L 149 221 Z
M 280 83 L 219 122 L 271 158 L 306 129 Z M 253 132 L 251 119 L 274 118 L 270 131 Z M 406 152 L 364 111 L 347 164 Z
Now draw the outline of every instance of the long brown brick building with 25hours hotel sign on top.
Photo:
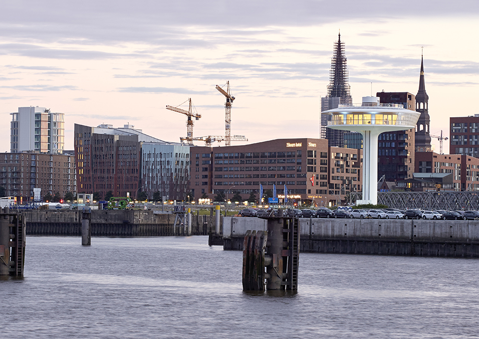
M 361 191 L 362 151 L 328 147 L 325 139 L 276 139 L 230 147 L 192 147 L 190 189 L 225 199 L 251 193 L 259 200 L 259 189 L 273 190 L 284 198 L 327 205 L 345 201 L 349 192 Z

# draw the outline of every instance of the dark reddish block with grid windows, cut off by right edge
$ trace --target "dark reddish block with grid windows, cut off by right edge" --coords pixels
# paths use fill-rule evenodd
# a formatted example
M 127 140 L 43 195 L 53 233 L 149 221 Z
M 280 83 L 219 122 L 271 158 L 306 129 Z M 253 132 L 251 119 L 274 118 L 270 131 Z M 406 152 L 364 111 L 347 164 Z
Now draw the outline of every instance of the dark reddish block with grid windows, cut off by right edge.
M 479 158 L 479 114 L 469 117 L 451 117 L 449 153 Z

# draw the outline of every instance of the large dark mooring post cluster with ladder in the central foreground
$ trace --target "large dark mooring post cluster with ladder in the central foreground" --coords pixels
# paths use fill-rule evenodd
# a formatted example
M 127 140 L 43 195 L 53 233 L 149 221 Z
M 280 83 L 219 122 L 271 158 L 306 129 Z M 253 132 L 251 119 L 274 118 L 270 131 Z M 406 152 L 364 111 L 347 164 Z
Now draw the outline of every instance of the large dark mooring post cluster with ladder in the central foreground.
M 247 231 L 243 243 L 244 291 L 297 290 L 299 259 L 299 222 L 297 218 L 270 214 L 267 233 Z M 266 269 L 266 271 L 265 271 Z

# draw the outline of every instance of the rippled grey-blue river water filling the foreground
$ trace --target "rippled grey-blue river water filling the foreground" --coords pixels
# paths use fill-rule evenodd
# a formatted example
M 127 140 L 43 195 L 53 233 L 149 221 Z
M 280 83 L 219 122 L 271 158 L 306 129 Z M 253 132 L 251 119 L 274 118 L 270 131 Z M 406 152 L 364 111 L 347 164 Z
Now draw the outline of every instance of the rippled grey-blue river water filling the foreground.
M 208 238 L 28 237 L 0 338 L 479 338 L 477 259 L 301 253 L 297 293 L 245 293 Z

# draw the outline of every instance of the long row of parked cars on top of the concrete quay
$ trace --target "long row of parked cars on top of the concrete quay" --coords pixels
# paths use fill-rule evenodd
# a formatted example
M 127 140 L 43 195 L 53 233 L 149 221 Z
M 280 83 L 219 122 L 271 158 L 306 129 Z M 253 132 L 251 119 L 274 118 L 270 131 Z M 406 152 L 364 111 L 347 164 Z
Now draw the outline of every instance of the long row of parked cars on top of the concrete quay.
M 277 216 L 277 209 L 245 208 L 240 210 L 241 216 L 264 217 Z M 420 209 L 336 209 L 327 207 L 318 209 L 290 208 L 283 211 L 283 215 L 294 218 L 377 218 L 377 219 L 443 219 L 443 220 L 479 220 L 479 211 L 425 211 Z

